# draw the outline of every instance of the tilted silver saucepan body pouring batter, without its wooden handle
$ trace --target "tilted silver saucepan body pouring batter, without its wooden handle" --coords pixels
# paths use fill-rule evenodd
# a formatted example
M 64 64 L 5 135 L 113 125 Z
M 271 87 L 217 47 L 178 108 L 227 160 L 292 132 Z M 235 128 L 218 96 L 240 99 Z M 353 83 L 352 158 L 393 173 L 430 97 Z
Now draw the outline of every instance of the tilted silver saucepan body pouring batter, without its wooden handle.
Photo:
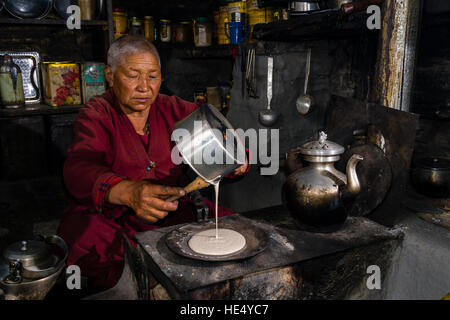
M 245 148 L 228 120 L 203 104 L 177 122 L 172 133 L 183 160 L 206 182 L 214 183 L 245 163 Z

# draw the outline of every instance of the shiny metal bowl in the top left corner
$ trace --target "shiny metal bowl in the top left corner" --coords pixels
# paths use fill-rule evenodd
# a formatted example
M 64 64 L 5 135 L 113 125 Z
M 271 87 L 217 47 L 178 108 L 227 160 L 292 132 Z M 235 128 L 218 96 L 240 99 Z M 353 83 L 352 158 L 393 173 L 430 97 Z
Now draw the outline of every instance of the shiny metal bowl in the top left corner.
M 53 0 L 5 0 L 5 9 L 19 19 L 42 19 L 52 8 Z

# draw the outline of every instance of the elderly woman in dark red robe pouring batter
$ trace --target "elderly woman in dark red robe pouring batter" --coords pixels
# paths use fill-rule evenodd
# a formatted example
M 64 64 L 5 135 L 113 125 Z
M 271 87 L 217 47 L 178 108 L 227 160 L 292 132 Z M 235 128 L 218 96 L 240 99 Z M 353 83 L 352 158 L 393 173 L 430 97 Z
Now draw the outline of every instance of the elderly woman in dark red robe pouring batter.
M 170 136 L 175 122 L 197 107 L 159 94 L 159 55 L 145 38 L 125 36 L 114 42 L 105 76 L 110 89 L 91 99 L 74 124 L 75 139 L 64 165 L 72 199 L 58 229 L 69 247 L 67 264 L 78 265 L 90 286 L 103 289 L 122 273 L 122 233 L 135 245 L 137 232 L 193 220 L 187 197 L 165 199 L 184 196 L 179 188 L 183 170 L 171 161 Z M 219 215 L 230 213 L 219 210 Z

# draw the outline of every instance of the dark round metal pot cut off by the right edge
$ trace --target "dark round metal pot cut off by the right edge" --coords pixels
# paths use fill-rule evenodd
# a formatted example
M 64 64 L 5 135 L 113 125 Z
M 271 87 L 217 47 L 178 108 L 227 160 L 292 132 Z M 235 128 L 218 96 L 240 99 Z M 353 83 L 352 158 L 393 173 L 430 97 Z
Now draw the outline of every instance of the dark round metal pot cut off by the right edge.
M 422 158 L 412 170 L 412 182 L 417 191 L 434 198 L 450 194 L 450 160 Z

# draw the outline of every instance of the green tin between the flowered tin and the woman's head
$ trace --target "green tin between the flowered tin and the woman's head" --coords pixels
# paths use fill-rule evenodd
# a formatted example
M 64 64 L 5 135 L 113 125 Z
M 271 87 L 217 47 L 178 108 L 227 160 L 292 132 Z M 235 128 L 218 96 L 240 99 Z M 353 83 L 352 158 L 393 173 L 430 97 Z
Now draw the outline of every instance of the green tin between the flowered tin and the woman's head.
M 98 62 L 86 62 L 81 66 L 81 86 L 83 103 L 105 92 L 105 65 Z

